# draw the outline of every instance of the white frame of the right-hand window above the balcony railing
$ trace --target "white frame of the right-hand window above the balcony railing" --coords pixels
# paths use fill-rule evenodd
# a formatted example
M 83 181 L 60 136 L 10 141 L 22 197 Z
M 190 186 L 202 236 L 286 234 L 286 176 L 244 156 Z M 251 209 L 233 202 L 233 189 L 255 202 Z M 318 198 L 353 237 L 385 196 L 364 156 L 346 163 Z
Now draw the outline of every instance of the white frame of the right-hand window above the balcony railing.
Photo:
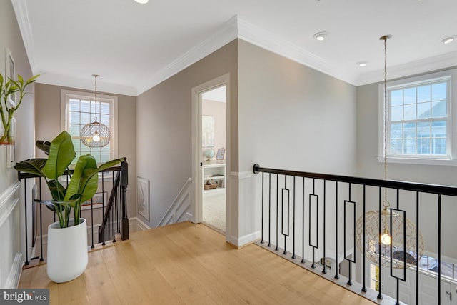
M 447 119 L 447 139 L 446 139 L 446 156 L 421 156 L 421 155 L 389 155 L 387 153 L 388 163 L 402 164 L 426 164 L 426 165 L 453 165 L 457 166 L 457 132 L 454 130 L 457 126 L 457 69 L 441 71 L 421 76 L 410 77 L 397 81 L 388 81 L 388 90 L 404 86 L 420 86 L 430 81 L 446 80 L 448 82 L 448 119 Z M 389 111 L 389 105 L 387 107 Z M 389 129 L 389 126 L 387 127 Z M 390 132 L 388 132 L 390 134 Z M 387 137 L 389 149 L 390 136 Z M 387 150 L 388 151 L 388 150 Z M 384 84 L 378 86 L 378 161 L 384 161 Z

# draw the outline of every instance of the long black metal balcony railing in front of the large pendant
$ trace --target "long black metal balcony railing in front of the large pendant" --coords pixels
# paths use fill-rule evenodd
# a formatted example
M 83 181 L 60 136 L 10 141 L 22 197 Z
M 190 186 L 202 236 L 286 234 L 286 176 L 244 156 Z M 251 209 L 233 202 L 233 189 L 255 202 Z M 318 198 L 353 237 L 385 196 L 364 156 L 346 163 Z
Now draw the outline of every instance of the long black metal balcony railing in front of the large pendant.
M 404 289 L 401 288 L 400 283 L 408 281 L 406 277 L 408 269 L 415 273 L 413 278 L 416 284 L 405 284 L 413 287 L 415 291 L 402 292 L 413 294 L 411 299 L 416 300 L 413 304 L 419 304 L 421 297 L 419 274 L 422 272 L 419 263 L 423 255 L 420 233 L 422 224 L 419 222 L 419 216 L 421 211 L 426 210 L 430 219 L 436 217 L 433 219 L 437 224 L 436 245 L 432 247 L 436 249 L 438 261 L 436 272 L 438 289 L 435 304 L 441 304 L 443 277 L 441 267 L 444 264 L 441 261 L 442 226 L 455 226 L 455 222 L 443 224 L 441 221 L 443 201 L 446 200 L 447 206 L 456 206 L 457 187 L 268 169 L 258 164 L 254 164 L 253 173 L 261 173 L 261 241 L 259 244 L 318 274 L 317 264 L 320 262 L 321 276 L 333 279 L 337 284 L 352 291 L 358 291 L 372 301 L 387 296 L 396 304 L 400 304 L 400 291 Z M 384 205 L 390 204 L 387 197 L 392 199 L 393 204 L 390 209 L 383 209 Z M 435 214 L 431 213 L 431 209 Z M 368 214 L 377 217 L 376 224 L 367 223 Z M 386 215 L 388 217 L 383 218 Z M 398 219 L 403 221 L 401 234 L 398 236 L 393 234 L 392 224 L 397 216 L 401 216 Z M 407 216 L 414 220 L 411 221 Z M 388 242 L 381 239 L 385 233 L 381 231 L 383 226 L 381 219 L 390 221 L 384 224 L 390 229 Z M 361 224 L 360 228 L 356 228 L 356 223 L 357 226 Z M 366 236 L 369 235 L 366 229 L 373 225 L 378 228 L 377 237 L 367 241 Z M 413 227 L 416 231 L 412 231 L 413 233 L 407 236 L 406 226 L 408 229 Z M 446 236 L 446 239 L 455 243 L 448 249 L 456 249 L 456 239 L 453 236 Z M 390 246 L 388 246 L 389 243 Z M 394 248 L 394 243 L 400 246 Z M 413 250 L 406 251 L 411 244 Z M 297 249 L 300 248 L 301 253 L 298 253 Z M 374 279 L 377 281 L 374 289 L 368 287 L 366 283 L 367 258 L 371 258 L 371 264 L 378 269 Z M 329 266 L 328 259 L 334 261 L 334 268 L 331 264 Z M 342 269 L 344 261 L 348 266 L 347 270 Z M 455 272 L 454 265 L 452 268 L 452 272 Z M 333 274 L 327 274 L 329 269 Z M 361 271 L 361 274 L 354 276 L 353 269 Z M 389 271 L 388 269 L 390 269 L 390 276 L 387 274 L 383 281 L 382 274 L 386 276 L 385 272 Z M 451 281 L 455 281 L 454 276 L 452 277 Z M 386 281 L 395 282 L 394 285 L 389 285 L 389 294 L 386 294 L 386 288 L 382 285 Z

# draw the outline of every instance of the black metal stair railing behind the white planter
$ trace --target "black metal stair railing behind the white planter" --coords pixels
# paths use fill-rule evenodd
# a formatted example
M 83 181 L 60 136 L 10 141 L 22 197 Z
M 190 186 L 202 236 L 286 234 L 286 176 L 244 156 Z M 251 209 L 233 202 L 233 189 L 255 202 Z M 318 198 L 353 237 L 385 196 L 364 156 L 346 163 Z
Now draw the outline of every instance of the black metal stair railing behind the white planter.
M 73 174 L 74 170 L 67 170 L 66 171 L 66 184 L 69 183 L 68 176 L 71 176 Z M 85 218 L 90 218 L 90 226 L 91 226 L 91 238 L 90 238 L 90 244 L 91 248 L 94 248 L 95 244 L 105 244 L 105 241 L 108 240 L 113 240 L 116 241 L 116 234 L 121 235 L 121 239 L 129 239 L 129 219 L 127 217 L 127 200 L 126 200 L 126 191 L 127 191 L 127 185 L 128 185 L 128 164 L 126 159 L 121 162 L 121 166 L 114 166 L 109 169 L 106 169 L 102 171 L 100 174 L 101 179 L 99 180 L 99 189 L 101 189 L 101 193 L 99 193 L 99 200 L 101 202 L 94 202 L 94 199 L 91 199 L 90 204 L 87 204 L 88 208 L 85 209 L 84 211 L 81 211 L 81 216 L 84 216 Z M 109 181 L 109 184 L 112 184 L 111 187 L 107 188 L 106 184 L 108 184 L 108 181 L 106 181 L 106 176 L 111 175 L 112 176 L 112 181 Z M 116 177 L 115 177 L 116 175 Z M 42 204 L 39 204 L 39 209 L 34 209 L 34 205 L 36 204 L 34 202 L 34 199 L 39 199 L 39 200 L 44 200 L 44 193 L 42 189 L 42 183 L 43 183 L 43 178 L 36 176 L 34 174 L 27 174 L 23 172 L 18 173 L 18 179 L 19 180 L 24 180 L 24 203 L 25 203 L 25 251 L 26 251 L 26 260 L 25 260 L 25 265 L 29 265 L 29 262 L 34 259 L 39 259 L 39 261 L 44 261 L 44 251 L 43 251 L 43 226 L 48 226 L 51 224 L 52 221 L 48 221 L 49 223 L 45 223 L 44 221 L 44 212 L 47 211 L 46 209 L 42 209 Z M 32 198 L 31 200 L 28 200 L 28 192 L 27 192 L 27 184 L 28 181 L 33 181 L 33 184 L 38 184 L 39 186 L 39 191 L 32 191 Z M 44 182 L 46 184 L 46 182 Z M 106 202 L 106 190 L 109 190 L 109 200 Z M 34 197 L 36 196 L 36 198 Z M 46 196 L 46 195 L 45 195 Z M 48 195 L 50 196 L 50 195 Z M 47 199 L 46 199 L 47 200 Z M 32 219 L 29 221 L 28 219 L 28 212 L 27 209 L 28 207 L 32 207 L 32 211 L 39 211 L 39 215 L 36 215 L 36 213 L 32 213 Z M 94 229 L 95 225 L 94 221 L 94 211 L 96 209 L 101 208 L 101 217 L 99 224 L 101 223 L 101 226 L 99 227 L 99 234 L 98 240 L 94 239 Z M 90 210 L 90 211 L 89 211 Z M 49 214 L 54 214 L 52 218 L 54 219 L 53 221 L 56 221 L 56 214 L 53 213 L 52 211 L 47 211 L 47 215 Z M 83 214 L 84 213 L 84 214 Z M 88 215 L 89 213 L 89 215 Z M 49 218 L 49 217 L 48 217 Z M 28 225 L 31 224 L 33 227 L 33 236 L 31 237 L 32 239 L 32 246 L 35 245 L 35 239 L 40 237 L 40 254 L 39 256 L 35 257 L 29 257 L 29 234 L 28 234 Z M 106 224 L 111 224 L 112 229 L 106 230 Z M 89 226 L 89 222 L 88 222 Z M 102 229 L 104 227 L 105 229 Z

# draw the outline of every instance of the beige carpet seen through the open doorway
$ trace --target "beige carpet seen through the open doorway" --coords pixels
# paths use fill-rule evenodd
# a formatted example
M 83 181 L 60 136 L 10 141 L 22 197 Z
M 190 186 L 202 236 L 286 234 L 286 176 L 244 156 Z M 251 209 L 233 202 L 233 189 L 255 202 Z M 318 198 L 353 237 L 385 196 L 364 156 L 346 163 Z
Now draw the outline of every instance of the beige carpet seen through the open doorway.
M 204 194 L 203 221 L 205 224 L 226 231 L 226 193 Z

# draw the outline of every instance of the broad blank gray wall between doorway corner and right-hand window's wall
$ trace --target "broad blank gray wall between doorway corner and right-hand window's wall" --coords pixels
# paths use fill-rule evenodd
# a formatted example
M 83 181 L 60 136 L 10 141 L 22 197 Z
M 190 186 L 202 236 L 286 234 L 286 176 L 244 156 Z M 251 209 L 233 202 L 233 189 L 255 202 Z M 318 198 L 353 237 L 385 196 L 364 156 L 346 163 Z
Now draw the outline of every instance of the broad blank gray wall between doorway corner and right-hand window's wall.
M 356 87 L 242 40 L 238 124 L 241 240 L 259 237 L 261 226 L 261 175 L 243 178 L 253 164 L 356 174 Z M 333 210 L 326 213 L 328 231 Z M 333 244 L 328 238 L 327 249 Z

